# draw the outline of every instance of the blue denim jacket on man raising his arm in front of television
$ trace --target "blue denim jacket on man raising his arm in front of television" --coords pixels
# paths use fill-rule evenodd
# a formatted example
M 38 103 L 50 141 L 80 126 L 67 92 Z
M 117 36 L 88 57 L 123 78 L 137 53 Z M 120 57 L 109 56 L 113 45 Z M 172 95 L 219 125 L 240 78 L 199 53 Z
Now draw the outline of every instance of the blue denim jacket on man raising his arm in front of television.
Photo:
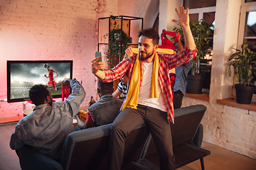
M 85 90 L 76 79 L 70 82 L 73 93 L 65 101 L 36 106 L 22 118 L 11 135 L 11 149 L 31 145 L 53 159 L 59 159 L 65 137 L 74 132 L 73 117 L 85 99 Z

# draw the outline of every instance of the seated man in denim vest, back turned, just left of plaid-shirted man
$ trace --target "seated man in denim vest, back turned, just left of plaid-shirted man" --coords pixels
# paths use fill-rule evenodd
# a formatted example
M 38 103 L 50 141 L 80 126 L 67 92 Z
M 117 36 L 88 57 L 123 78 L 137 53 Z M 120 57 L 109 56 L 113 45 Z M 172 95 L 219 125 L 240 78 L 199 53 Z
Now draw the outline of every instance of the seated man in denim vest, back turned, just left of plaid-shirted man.
M 114 121 L 120 112 L 122 101 L 112 96 L 113 90 L 113 82 L 104 83 L 99 80 L 97 93 L 100 96 L 100 101 L 97 101 L 88 108 L 88 117 L 85 122 L 78 115 L 75 115 L 75 118 L 78 120 L 78 127 L 81 130 L 107 125 Z

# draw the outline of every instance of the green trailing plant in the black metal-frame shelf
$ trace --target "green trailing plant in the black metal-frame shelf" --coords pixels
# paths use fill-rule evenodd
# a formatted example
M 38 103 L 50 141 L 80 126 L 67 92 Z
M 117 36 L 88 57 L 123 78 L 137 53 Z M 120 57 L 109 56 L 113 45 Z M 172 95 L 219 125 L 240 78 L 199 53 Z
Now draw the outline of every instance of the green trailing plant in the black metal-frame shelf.
M 105 55 L 109 68 L 112 68 L 118 64 L 119 58 L 125 54 L 125 50 L 129 47 L 128 43 L 131 42 L 131 38 L 119 28 L 115 21 L 116 17 L 110 16 L 110 19 L 114 20 L 114 29 L 109 33 L 109 47 Z

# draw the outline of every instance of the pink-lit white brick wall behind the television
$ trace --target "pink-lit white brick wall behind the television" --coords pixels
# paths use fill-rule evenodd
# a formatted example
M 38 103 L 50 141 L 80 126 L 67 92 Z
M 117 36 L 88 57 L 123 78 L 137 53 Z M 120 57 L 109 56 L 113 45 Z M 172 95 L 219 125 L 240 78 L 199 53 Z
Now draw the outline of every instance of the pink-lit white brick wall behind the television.
M 73 77 L 97 98 L 91 60 L 97 50 L 97 16 L 105 1 L 4 0 L 0 2 L 0 99 L 6 96 L 6 60 L 73 60 Z M 22 103 L 0 102 L 0 118 L 22 113 Z

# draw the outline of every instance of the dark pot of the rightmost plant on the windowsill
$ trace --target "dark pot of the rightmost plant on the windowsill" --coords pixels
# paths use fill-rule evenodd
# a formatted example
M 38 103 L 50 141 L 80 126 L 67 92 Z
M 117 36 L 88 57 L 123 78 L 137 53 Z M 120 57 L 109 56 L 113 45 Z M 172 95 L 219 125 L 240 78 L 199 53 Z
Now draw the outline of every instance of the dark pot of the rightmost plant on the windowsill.
M 255 88 L 256 86 L 242 86 L 242 84 L 235 84 L 236 102 L 240 104 L 250 104 Z

